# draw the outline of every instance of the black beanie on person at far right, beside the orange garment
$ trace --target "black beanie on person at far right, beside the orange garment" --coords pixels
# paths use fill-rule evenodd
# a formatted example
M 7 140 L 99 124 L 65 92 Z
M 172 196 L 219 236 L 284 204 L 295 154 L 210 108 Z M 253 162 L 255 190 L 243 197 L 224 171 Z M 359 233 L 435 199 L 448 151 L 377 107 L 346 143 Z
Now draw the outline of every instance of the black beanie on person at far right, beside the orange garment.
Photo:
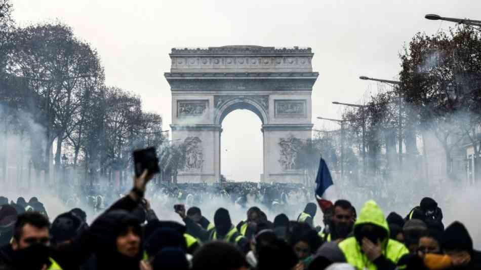
M 443 234 L 442 247 L 444 250 L 462 250 L 472 253 L 473 241 L 463 223 L 454 221 L 446 228 Z

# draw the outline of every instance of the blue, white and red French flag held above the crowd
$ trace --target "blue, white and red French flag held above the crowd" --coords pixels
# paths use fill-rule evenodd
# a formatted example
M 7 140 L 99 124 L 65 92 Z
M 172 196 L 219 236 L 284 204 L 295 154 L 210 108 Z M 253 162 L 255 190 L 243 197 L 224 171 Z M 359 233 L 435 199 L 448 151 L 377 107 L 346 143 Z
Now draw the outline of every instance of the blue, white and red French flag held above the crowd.
M 329 172 L 326 161 L 321 158 L 319 162 L 319 169 L 317 169 L 317 177 L 315 178 L 315 199 L 321 209 L 332 205 L 336 200 L 336 190 L 332 181 L 331 172 Z

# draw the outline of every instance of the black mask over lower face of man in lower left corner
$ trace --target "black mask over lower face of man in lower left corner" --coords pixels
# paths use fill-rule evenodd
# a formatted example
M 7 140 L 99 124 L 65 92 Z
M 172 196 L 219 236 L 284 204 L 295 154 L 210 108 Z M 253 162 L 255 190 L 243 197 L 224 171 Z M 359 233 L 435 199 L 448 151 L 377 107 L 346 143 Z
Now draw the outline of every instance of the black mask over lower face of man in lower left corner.
M 15 250 L 13 264 L 18 269 L 39 270 L 49 263 L 49 247 L 43 244 L 33 244 L 28 248 Z

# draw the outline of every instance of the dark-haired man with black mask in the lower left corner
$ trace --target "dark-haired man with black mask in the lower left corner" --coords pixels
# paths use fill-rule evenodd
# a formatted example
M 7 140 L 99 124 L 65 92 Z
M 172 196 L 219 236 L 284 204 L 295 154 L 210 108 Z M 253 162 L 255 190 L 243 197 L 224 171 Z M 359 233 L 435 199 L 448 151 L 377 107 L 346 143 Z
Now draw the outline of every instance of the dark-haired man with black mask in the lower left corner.
M 13 241 L 0 250 L 0 265 L 14 269 L 61 269 L 50 257 L 49 220 L 38 212 L 17 218 Z

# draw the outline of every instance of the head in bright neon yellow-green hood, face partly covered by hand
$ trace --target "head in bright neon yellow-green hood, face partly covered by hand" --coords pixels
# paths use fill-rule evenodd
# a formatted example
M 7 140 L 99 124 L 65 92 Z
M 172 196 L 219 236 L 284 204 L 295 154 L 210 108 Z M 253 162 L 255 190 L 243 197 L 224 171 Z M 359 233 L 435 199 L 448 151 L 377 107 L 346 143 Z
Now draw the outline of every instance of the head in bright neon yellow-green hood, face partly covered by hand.
M 354 223 L 354 237 L 357 242 L 367 238 L 373 243 L 385 242 L 389 236 L 389 226 L 384 213 L 373 200 L 367 201 Z

